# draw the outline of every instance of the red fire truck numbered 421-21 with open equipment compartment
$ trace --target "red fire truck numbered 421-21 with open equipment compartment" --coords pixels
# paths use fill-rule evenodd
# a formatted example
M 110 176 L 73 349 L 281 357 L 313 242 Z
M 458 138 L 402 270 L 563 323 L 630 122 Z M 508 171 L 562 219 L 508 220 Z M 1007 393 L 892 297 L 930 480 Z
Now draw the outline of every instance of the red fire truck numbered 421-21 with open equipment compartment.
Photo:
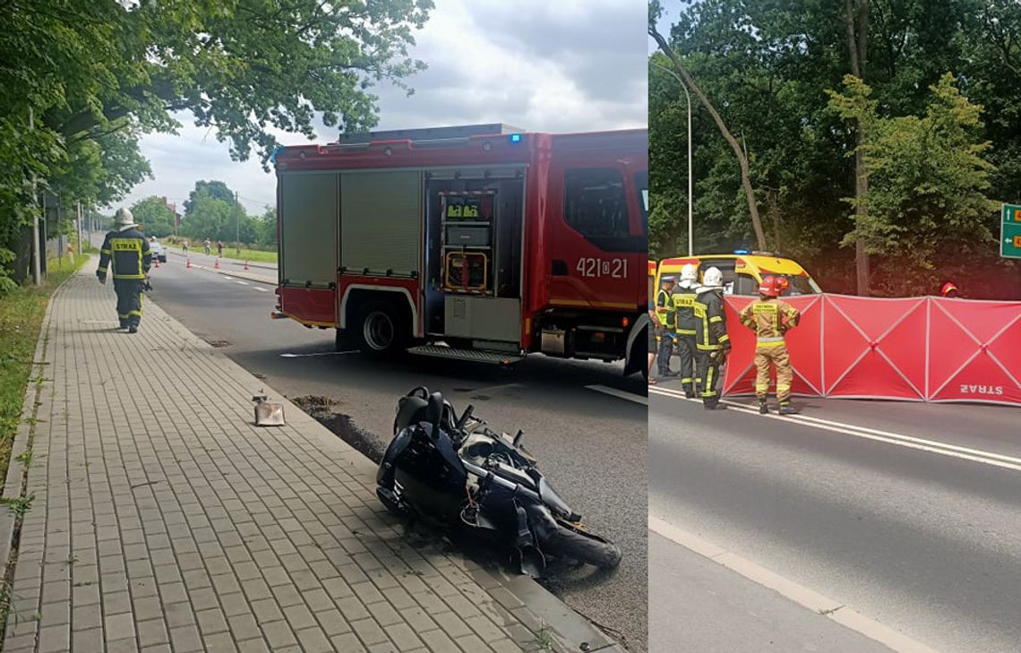
M 371 354 L 644 368 L 645 130 L 373 132 L 274 161 L 274 317 Z

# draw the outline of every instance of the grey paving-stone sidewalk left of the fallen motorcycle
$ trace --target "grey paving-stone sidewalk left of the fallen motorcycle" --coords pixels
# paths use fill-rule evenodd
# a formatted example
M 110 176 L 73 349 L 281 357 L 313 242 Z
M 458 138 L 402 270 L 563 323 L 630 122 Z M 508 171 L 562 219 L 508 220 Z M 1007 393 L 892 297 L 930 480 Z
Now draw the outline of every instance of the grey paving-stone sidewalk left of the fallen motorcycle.
M 375 466 L 318 422 L 285 402 L 287 426 L 255 427 L 260 382 L 158 307 L 113 330 L 94 270 L 54 295 L 15 440 L 34 438 L 34 499 L 4 653 L 562 650 L 494 576 L 386 514 Z

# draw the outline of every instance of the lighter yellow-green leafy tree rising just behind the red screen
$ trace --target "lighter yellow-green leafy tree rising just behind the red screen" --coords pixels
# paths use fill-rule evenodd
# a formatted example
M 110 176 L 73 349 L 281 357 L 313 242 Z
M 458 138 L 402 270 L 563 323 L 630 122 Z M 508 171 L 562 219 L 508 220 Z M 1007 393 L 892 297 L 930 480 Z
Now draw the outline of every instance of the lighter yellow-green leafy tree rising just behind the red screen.
M 870 253 L 889 256 L 884 283 L 894 294 L 910 293 L 919 281 L 934 284 L 928 271 L 937 252 L 988 246 L 998 206 L 985 196 L 993 167 L 985 157 L 990 143 L 979 140 L 981 107 L 961 95 L 949 73 L 929 88 L 922 118 L 880 116 L 872 89 L 853 76 L 842 94 L 830 93 L 831 108 L 864 128 L 859 147 L 869 176 L 864 194 L 845 198 L 866 212 L 844 241 L 864 241 Z

